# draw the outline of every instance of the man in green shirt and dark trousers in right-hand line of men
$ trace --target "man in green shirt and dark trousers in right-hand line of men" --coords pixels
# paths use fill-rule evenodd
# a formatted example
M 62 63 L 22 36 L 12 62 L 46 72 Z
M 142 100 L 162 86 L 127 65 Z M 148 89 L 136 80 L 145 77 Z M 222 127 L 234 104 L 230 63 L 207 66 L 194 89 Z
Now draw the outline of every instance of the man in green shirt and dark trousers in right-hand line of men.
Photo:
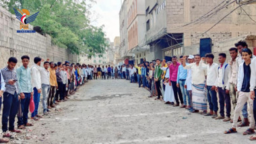
M 156 59 L 156 70 L 155 70 L 155 83 L 156 83 L 156 91 L 158 92 L 158 100 L 161 98 L 162 93 L 161 93 L 161 75 L 162 75 L 162 69 L 161 69 L 161 64 L 160 64 L 160 59 Z

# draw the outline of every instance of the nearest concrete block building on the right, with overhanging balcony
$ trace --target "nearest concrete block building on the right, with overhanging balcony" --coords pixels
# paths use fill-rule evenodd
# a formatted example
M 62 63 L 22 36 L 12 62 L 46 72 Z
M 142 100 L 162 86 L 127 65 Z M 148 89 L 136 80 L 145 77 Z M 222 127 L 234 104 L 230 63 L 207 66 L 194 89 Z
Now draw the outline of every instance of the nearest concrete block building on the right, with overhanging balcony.
M 255 32 L 255 22 L 238 7 L 222 0 L 146 1 L 146 44 L 152 57 L 197 54 L 200 41 L 209 39 L 211 50 L 216 42 Z M 251 15 L 256 12 L 255 4 L 243 5 L 243 9 Z

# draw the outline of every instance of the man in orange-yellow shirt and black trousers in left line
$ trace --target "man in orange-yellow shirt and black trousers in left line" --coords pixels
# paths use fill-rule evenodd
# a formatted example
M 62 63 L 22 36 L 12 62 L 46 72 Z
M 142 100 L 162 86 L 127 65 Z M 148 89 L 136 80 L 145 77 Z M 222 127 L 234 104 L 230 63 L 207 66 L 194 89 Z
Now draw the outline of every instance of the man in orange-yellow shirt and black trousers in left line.
M 54 94 L 55 94 L 55 88 L 58 89 L 58 83 L 57 83 L 57 77 L 56 77 L 56 71 L 54 69 L 55 67 L 55 63 L 51 62 L 50 63 L 50 92 L 49 92 L 49 97 L 47 100 L 47 104 L 48 104 L 48 108 L 55 108 L 55 106 L 53 106 L 53 98 L 54 98 Z

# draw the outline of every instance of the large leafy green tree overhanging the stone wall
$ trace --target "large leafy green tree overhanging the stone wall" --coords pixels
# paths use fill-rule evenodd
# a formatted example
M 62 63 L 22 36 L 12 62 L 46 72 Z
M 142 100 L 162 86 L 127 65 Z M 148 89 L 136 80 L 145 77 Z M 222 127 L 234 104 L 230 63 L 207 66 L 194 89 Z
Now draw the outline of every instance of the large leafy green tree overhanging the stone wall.
M 94 0 L 90 0 L 94 2 Z M 102 55 L 106 39 L 104 26 L 90 25 L 90 5 L 73 0 L 0 0 L 0 4 L 14 14 L 13 8 L 28 9 L 31 14 L 40 11 L 31 24 L 52 37 L 52 42 L 79 54 Z

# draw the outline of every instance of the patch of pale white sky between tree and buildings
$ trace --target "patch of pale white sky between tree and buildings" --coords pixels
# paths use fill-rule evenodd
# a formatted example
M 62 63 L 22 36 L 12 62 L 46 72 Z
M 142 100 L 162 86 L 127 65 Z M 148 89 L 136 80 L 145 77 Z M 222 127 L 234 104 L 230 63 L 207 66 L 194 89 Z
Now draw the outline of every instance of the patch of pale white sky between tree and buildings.
M 113 42 L 119 36 L 119 11 L 123 0 L 95 0 L 92 6 L 92 25 L 104 25 L 106 38 Z

